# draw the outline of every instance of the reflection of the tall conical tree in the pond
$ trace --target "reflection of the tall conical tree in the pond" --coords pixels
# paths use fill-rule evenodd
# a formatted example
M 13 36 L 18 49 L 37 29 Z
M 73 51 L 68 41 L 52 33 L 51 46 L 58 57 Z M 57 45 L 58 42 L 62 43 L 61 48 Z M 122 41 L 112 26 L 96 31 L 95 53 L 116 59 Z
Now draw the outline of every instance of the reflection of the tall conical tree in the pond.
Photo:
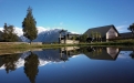
M 31 83 L 35 82 L 35 76 L 38 75 L 39 72 L 38 65 L 39 65 L 38 55 L 31 52 L 31 54 L 24 59 L 24 73 L 27 74 Z

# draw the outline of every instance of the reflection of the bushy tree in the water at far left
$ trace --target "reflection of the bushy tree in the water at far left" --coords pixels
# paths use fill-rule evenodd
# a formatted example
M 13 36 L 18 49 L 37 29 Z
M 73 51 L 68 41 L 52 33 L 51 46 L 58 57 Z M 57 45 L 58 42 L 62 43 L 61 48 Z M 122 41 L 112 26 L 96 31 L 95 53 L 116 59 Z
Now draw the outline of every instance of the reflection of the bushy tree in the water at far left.
M 9 54 L 9 55 L 3 55 L 1 56 L 2 62 L 6 66 L 6 71 L 7 73 L 9 73 L 9 71 L 14 71 L 16 70 L 16 62 L 19 59 L 19 54 Z

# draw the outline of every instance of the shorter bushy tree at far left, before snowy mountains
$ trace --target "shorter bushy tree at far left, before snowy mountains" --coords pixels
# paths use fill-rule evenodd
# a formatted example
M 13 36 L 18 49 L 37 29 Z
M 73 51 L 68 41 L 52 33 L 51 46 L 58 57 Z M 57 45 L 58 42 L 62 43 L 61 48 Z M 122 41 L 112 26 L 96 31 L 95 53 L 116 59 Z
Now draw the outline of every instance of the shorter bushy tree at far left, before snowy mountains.
M 8 27 L 7 23 L 4 23 L 3 33 L 2 33 L 2 41 L 4 41 L 4 42 L 18 41 L 18 35 L 14 33 L 13 25 Z

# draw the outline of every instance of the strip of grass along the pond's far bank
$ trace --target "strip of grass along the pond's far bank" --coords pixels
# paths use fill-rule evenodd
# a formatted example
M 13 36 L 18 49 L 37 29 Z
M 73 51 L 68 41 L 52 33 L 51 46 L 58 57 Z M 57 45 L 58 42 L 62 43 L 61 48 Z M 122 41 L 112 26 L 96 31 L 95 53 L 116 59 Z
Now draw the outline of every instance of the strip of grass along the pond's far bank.
M 0 44 L 0 55 L 10 53 L 20 53 L 29 50 L 39 49 L 58 49 L 64 46 L 116 46 L 116 48 L 134 48 L 134 40 L 118 40 L 113 42 L 93 42 L 79 44 Z

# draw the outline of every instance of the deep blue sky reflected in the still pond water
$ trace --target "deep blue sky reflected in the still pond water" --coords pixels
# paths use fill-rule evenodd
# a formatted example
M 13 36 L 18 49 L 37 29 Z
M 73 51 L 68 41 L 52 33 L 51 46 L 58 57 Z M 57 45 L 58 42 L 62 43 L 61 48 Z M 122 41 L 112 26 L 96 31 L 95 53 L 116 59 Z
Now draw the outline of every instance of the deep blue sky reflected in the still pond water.
M 51 62 L 38 68 L 35 83 L 134 83 L 134 60 L 130 56 L 131 52 L 121 51 L 115 61 L 91 60 L 79 54 L 65 62 Z M 23 68 L 9 74 L 1 70 L 0 79 L 0 83 L 29 83 Z

